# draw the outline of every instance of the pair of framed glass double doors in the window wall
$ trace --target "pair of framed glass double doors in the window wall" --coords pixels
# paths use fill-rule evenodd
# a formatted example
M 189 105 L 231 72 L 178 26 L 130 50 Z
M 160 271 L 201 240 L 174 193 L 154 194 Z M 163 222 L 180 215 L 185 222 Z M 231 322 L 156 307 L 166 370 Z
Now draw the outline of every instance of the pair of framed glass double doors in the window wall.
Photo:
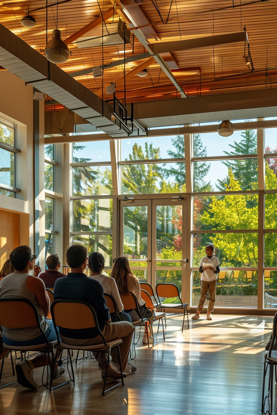
M 181 294 L 184 287 L 185 206 L 185 200 L 120 200 L 119 255 L 153 289 L 174 283 Z

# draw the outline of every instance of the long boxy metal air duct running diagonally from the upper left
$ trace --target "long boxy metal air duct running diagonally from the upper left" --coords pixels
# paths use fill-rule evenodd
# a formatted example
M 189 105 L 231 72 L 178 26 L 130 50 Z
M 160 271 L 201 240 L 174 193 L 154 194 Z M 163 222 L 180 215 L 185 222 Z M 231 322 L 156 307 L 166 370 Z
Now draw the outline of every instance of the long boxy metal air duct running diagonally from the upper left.
M 127 137 L 127 132 L 111 120 L 113 108 L 108 103 L 103 102 L 59 66 L 48 63 L 44 56 L 2 24 L 0 32 L 0 66 L 76 112 L 111 137 Z

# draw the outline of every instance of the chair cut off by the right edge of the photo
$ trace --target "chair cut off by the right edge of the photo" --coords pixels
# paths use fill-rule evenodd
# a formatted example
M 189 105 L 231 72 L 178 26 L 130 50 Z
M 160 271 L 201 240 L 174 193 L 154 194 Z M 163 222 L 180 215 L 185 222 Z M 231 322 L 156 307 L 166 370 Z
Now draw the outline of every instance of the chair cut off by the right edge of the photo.
M 263 381 L 262 381 L 262 414 L 269 413 L 272 414 L 272 401 L 273 401 L 273 375 L 274 375 L 274 368 L 275 368 L 275 382 L 277 382 L 277 350 L 272 350 L 273 345 L 276 341 L 276 330 L 277 330 L 277 313 L 273 319 L 273 329 L 272 329 L 272 339 L 270 343 L 269 350 L 265 351 L 265 360 L 264 360 L 264 374 L 263 374 Z M 265 396 L 265 378 L 267 375 L 267 368 L 269 366 L 269 379 L 268 379 L 268 392 Z M 265 404 L 268 399 L 268 410 L 265 412 Z

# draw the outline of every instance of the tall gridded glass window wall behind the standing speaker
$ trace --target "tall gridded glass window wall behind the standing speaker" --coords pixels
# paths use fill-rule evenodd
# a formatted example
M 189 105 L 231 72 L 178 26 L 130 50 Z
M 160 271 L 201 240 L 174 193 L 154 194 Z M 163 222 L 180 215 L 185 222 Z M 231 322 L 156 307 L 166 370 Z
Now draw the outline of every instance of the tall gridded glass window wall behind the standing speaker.
M 193 307 L 200 295 L 199 263 L 206 245 L 213 243 L 221 267 L 216 307 L 277 307 L 276 132 L 277 128 L 265 128 L 235 130 L 228 138 L 219 137 L 217 132 L 129 137 L 116 140 L 115 159 L 108 141 L 74 143 L 72 243 L 84 244 L 89 253 L 101 252 L 109 273 L 112 258 L 120 253 L 118 232 L 123 227 L 122 252 L 140 281 L 148 281 L 153 287 L 158 282 L 176 283 Z M 264 140 L 264 154 L 260 154 L 257 149 Z M 185 154 L 185 148 L 189 154 Z M 157 222 L 156 230 L 151 230 L 149 224 L 144 229 L 140 224 L 143 218 L 146 221 L 146 214 L 141 220 L 138 213 L 135 219 L 126 219 L 129 211 L 144 212 L 143 200 L 158 197 L 186 198 L 187 206 L 192 202 L 192 209 L 183 208 L 185 234 L 178 215 L 168 222 L 164 208 L 163 223 Z M 127 206 L 120 222 L 118 200 L 123 198 Z M 133 203 L 136 200 L 141 201 L 140 205 Z M 153 215 L 153 204 L 147 206 L 148 216 L 151 209 Z M 187 215 L 192 216 L 192 229 Z M 134 224 L 138 224 L 136 229 Z M 165 224 L 167 242 L 158 232 L 158 225 Z M 180 228 L 178 235 L 172 236 L 170 226 Z M 151 257 L 150 247 L 154 245 L 157 252 Z M 190 272 L 180 264 L 187 257 Z M 174 264 L 177 260 L 179 264 Z

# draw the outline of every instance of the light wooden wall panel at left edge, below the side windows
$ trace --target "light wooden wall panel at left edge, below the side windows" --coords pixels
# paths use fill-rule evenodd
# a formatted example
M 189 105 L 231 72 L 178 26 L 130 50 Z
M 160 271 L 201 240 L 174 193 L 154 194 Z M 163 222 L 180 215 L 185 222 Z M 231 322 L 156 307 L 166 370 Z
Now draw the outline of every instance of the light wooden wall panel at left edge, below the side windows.
M 0 269 L 19 244 L 19 214 L 0 210 Z

